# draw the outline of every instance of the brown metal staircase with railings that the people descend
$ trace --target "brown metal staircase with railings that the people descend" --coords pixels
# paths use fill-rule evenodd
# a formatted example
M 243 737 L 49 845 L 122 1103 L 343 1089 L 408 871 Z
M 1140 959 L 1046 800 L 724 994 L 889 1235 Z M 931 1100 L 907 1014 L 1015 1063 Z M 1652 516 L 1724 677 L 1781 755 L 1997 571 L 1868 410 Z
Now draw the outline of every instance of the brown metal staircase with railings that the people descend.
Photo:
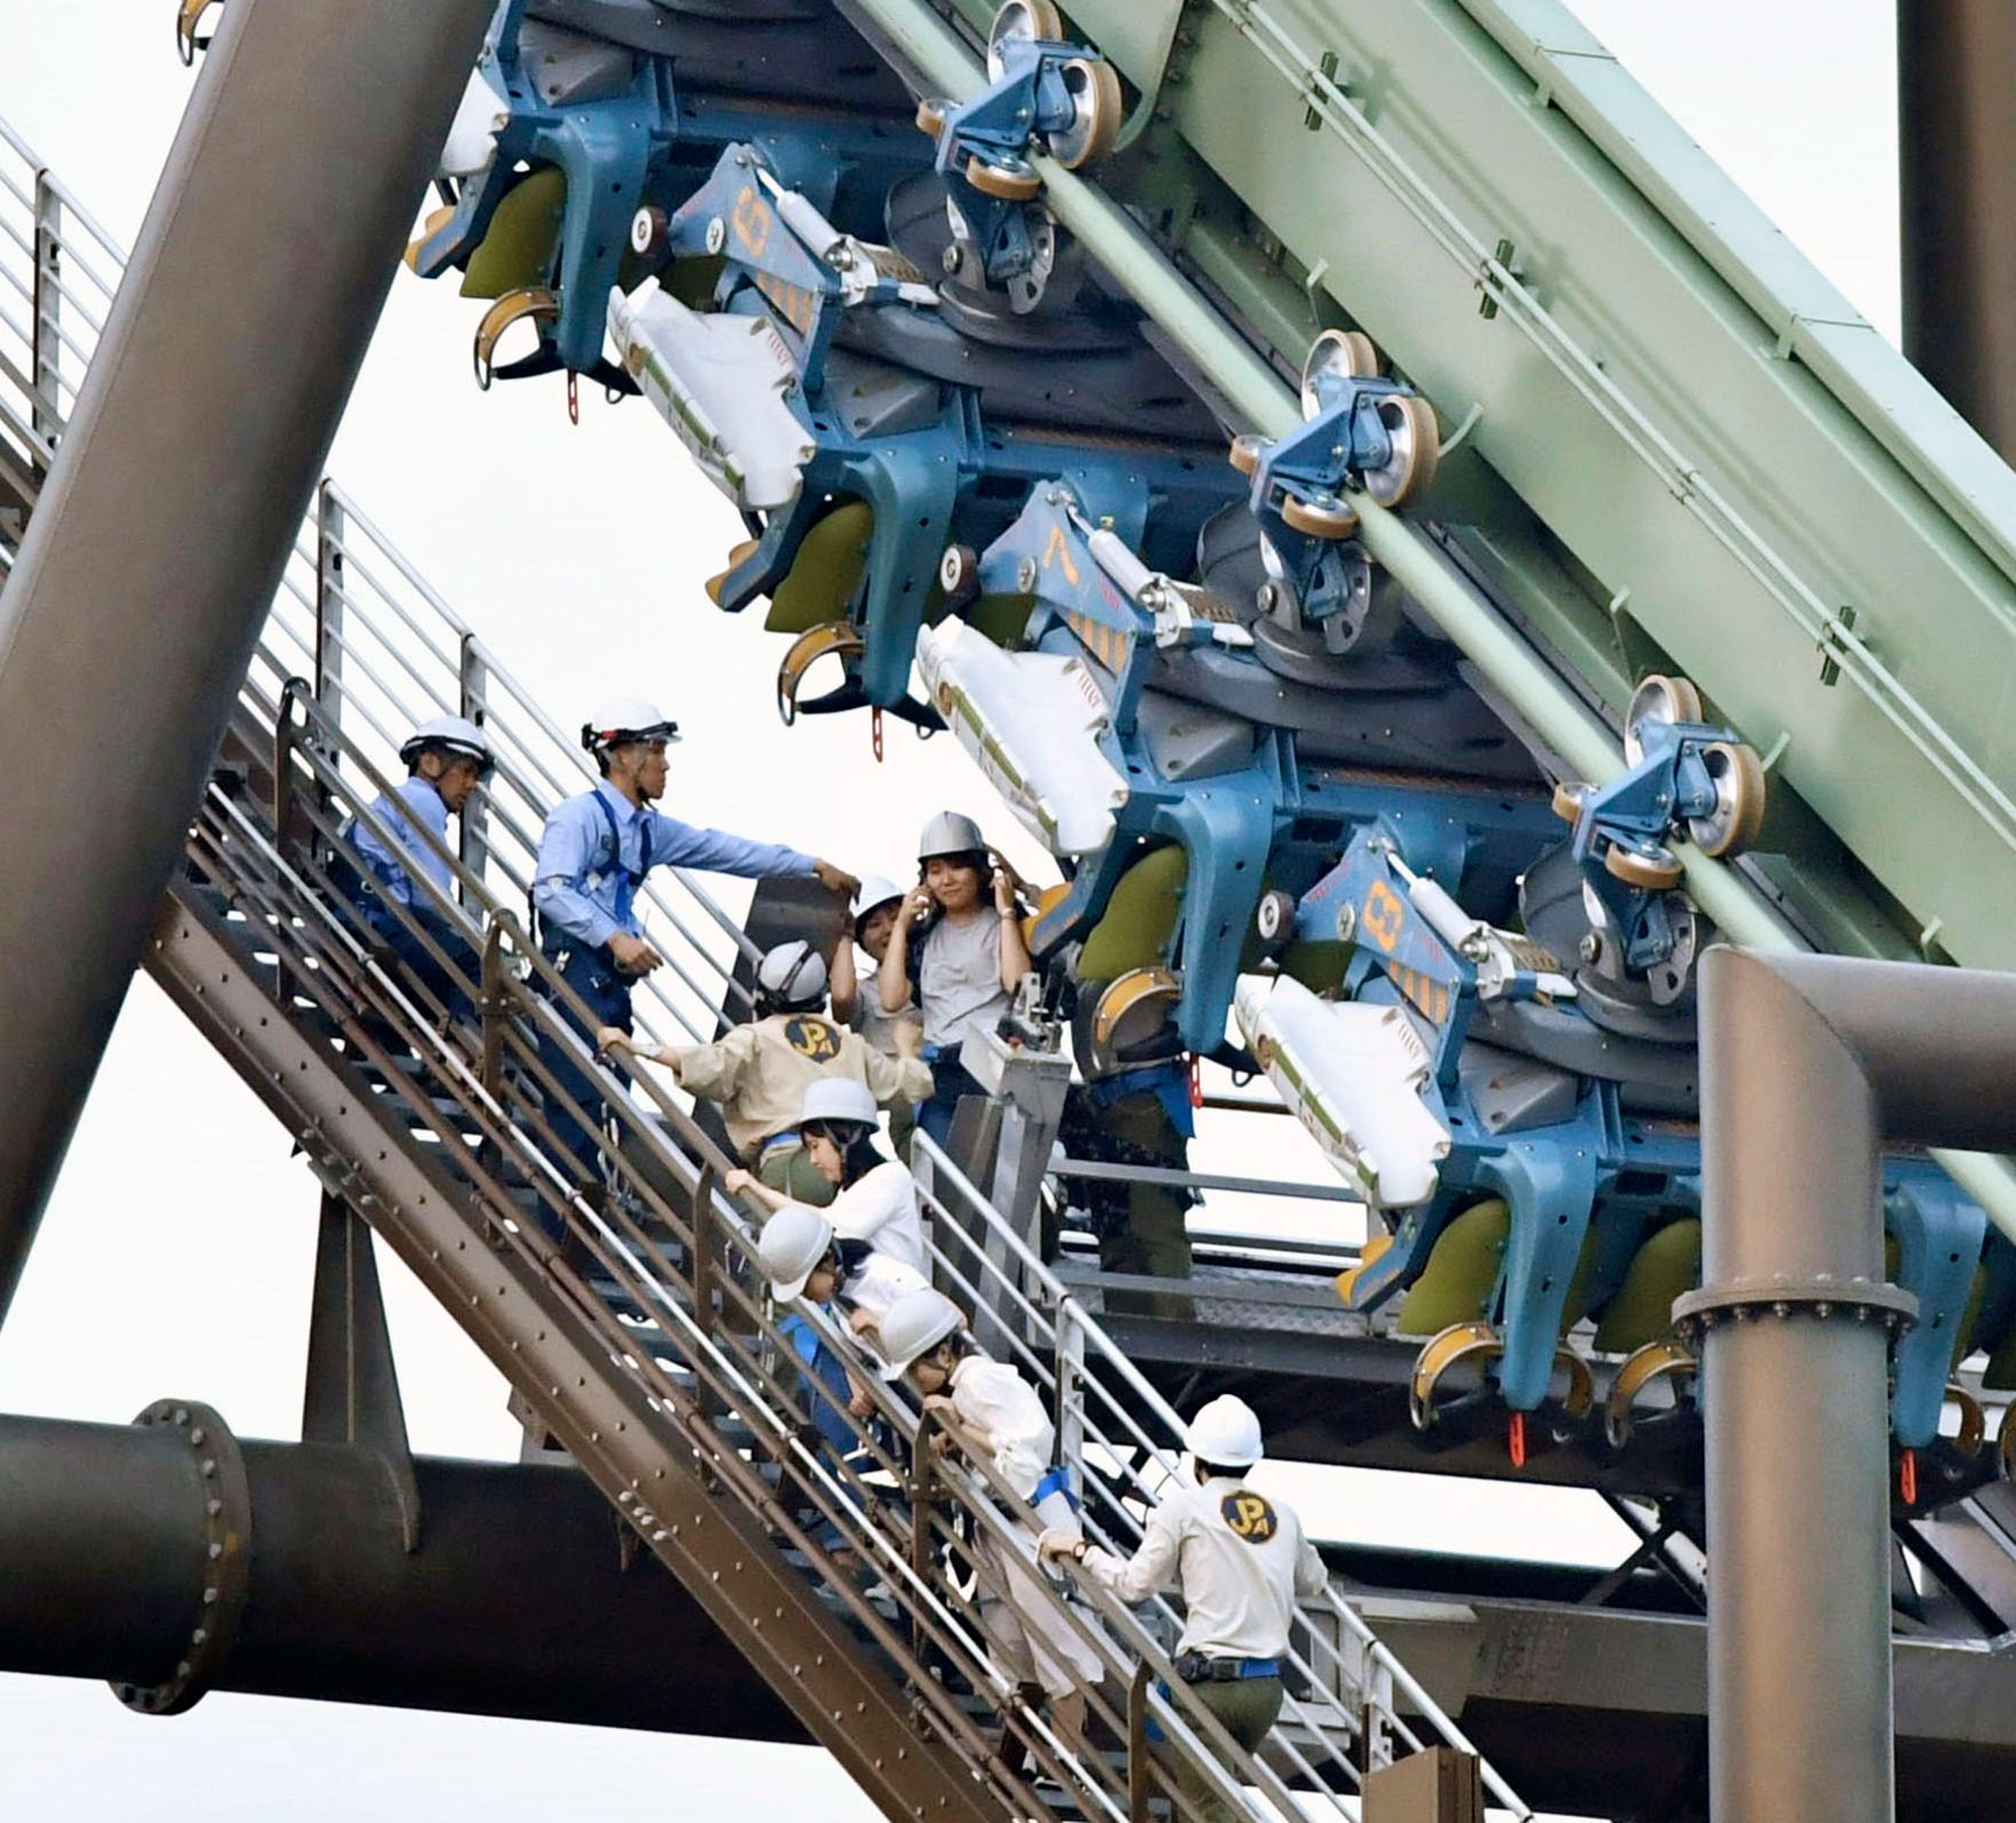
M 103 315 L 119 250 L 0 127 L 20 175 L 36 278 L 30 325 L 6 315 L 0 450 L 24 516 Z M 8 214 L 0 208 L 0 226 Z M 6 230 L 10 238 L 14 230 Z M 10 262 L 0 272 L 16 290 Z M 79 327 L 85 325 L 85 327 Z M 22 359 L 26 355 L 26 359 Z M 16 542 L 0 524 L 0 563 Z M 444 1000 L 399 968 L 345 885 L 355 827 L 397 740 L 431 714 L 484 722 L 498 768 L 462 827 L 456 893 L 427 895 Z M 554 1002 L 569 990 L 520 909 L 550 805 L 587 784 L 581 754 L 335 484 L 319 492 L 198 809 L 147 968 L 294 1135 L 331 1198 L 383 1236 L 512 1383 L 520 1408 L 607 1494 L 645 1549 L 780 1692 L 889 1817 L 1195 1815 L 1189 1763 L 1242 1813 L 1341 1815 L 1365 1771 L 1464 1734 L 1331 1595 L 1304 1613 L 1292 1696 L 1260 1758 L 1173 1676 L 1165 1599 L 1129 1611 L 1040 1581 L 1099 1658 L 1085 1740 L 1028 1710 L 976 1623 L 974 1541 L 1026 1555 L 1030 1514 L 984 1466 L 941 1462 L 879 1377 L 859 1448 L 823 1450 L 806 1391 L 752 1270 L 752 1230 L 720 1194 L 732 1168 L 679 1099 L 605 1077 L 605 1194 L 548 1158 L 566 1097 L 554 1047 L 587 1059 Z M 657 875 L 649 922 L 669 966 L 639 994 L 661 1041 L 708 1037 L 734 1006 L 746 942 L 685 877 Z M 480 960 L 478 960 L 480 958 Z M 581 1012 L 581 1008 L 575 1008 Z M 579 1109 L 595 1125 L 593 1109 Z M 1179 1426 L 1066 1285 L 958 1168 L 919 1141 L 939 1283 L 1052 1402 L 1087 1529 L 1131 1551 L 1175 1472 Z M 851 1341 L 829 1335 L 837 1351 Z M 831 1400 L 814 1387 L 812 1397 Z M 980 1575 L 986 1575 L 984 1571 Z M 202 1637 L 192 1654 L 202 1650 Z M 1147 1750 L 1147 1724 L 1167 1738 Z M 1230 1771 L 1220 1767 L 1220 1756 Z M 1486 1767 L 1498 1803 L 1528 1815 Z M 1248 1789 L 1260 1793 L 1254 1811 Z

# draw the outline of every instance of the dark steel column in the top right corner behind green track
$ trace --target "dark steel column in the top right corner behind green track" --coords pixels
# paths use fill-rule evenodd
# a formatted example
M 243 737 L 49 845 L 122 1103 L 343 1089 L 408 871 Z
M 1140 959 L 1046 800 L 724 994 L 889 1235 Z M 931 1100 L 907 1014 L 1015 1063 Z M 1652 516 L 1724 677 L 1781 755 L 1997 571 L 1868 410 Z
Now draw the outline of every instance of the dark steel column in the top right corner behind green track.
M 2016 460 L 2016 8 L 1897 0 L 1903 351 Z

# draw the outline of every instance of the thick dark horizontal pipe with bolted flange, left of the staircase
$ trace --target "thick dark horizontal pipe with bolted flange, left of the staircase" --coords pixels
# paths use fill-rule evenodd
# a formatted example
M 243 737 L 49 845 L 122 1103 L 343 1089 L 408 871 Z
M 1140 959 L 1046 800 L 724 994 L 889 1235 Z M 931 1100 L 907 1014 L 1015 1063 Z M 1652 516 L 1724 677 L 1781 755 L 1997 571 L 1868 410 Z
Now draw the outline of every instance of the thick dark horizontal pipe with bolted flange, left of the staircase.
M 244 1466 L 244 1514 L 226 1514 L 246 1531 L 236 1613 L 204 1603 L 218 1482 L 204 1462 L 220 1450 Z M 192 1698 L 208 1686 L 804 1740 L 649 1553 L 625 1567 L 583 1474 L 427 1458 L 415 1474 L 425 1529 L 407 1553 L 365 1450 L 0 1418 L 0 1670 L 151 1692 L 208 1625 L 234 1644 Z

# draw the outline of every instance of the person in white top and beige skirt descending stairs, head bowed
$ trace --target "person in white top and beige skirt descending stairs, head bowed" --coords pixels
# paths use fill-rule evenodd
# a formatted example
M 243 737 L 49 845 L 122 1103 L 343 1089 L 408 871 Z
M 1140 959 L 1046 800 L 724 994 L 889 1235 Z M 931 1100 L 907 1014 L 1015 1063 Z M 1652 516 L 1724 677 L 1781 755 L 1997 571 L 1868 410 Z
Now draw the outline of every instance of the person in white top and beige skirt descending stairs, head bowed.
M 877 1327 L 885 1379 L 907 1379 L 927 1412 L 941 1412 L 1000 1480 L 1036 1512 L 1038 1531 L 1068 1535 L 1079 1525 L 1070 1474 L 1056 1464 L 1056 1426 L 1036 1389 L 1006 1361 L 980 1351 L 960 1307 L 937 1291 L 899 1299 Z M 1066 1734 L 1085 1732 L 1085 1686 L 1105 1678 L 1099 1654 L 1058 1607 L 1036 1569 L 1038 1531 L 1024 1527 L 1016 1549 L 982 1535 L 980 1625 L 1002 1672 L 1032 1708 L 1048 1708 Z

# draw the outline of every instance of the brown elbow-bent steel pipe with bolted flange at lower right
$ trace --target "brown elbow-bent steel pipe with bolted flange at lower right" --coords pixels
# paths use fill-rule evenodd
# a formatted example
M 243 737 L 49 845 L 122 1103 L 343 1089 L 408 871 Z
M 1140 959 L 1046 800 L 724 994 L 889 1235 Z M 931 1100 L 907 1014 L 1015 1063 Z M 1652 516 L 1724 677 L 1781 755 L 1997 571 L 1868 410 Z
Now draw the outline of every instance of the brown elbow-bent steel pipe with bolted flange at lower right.
M 2006 1145 L 2016 976 L 1710 950 L 1702 1329 L 1710 1811 L 1889 1823 L 1883 1139 Z M 1796 1490 L 1796 1498 L 1788 1498 Z

